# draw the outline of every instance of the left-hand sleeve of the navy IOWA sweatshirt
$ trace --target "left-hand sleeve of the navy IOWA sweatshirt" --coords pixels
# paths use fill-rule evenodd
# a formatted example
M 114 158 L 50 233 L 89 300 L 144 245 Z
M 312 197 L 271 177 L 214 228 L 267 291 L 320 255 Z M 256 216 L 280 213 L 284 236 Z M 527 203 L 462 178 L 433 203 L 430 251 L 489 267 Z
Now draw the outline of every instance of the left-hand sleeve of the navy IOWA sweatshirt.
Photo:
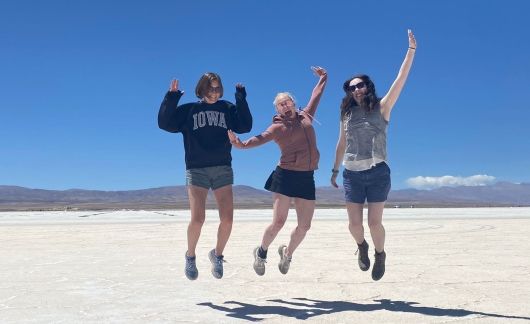
M 182 91 L 168 91 L 158 111 L 158 127 L 170 133 L 181 132 L 186 124 L 185 109 L 177 107 Z

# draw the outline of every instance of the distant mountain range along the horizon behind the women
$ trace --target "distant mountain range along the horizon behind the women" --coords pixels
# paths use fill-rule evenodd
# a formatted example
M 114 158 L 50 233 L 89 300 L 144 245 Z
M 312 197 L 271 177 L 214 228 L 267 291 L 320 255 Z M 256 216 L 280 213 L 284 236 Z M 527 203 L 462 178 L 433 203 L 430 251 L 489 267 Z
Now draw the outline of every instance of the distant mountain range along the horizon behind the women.
M 270 208 L 271 193 L 234 186 L 236 208 Z M 317 188 L 317 207 L 344 206 L 343 190 Z M 209 194 L 208 207 L 215 207 Z M 404 189 L 390 192 L 389 207 L 530 206 L 530 183 L 497 182 L 489 186 Z M 189 208 L 186 186 L 127 191 L 43 190 L 0 186 L 0 210 L 182 209 Z

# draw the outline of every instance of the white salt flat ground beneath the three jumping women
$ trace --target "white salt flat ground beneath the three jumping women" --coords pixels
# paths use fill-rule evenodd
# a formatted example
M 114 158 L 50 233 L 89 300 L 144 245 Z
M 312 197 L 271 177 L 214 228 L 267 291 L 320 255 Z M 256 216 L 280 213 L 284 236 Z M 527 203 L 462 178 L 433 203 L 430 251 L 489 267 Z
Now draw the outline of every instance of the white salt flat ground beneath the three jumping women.
M 271 210 L 234 218 L 218 280 L 207 212 L 191 282 L 189 211 L 0 213 L 0 323 L 530 322 L 530 208 L 387 209 L 378 282 L 357 266 L 342 209 L 316 211 L 287 275 L 276 248 L 294 211 L 263 277 L 252 249 Z

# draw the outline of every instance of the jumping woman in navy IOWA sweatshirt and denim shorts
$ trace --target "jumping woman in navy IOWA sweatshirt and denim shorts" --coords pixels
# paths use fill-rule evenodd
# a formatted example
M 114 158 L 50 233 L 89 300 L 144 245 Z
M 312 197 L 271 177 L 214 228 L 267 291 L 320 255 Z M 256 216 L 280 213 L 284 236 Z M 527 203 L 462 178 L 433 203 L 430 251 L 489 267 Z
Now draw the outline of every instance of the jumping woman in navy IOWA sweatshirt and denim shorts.
M 172 80 L 158 113 L 158 126 L 171 133 L 182 133 L 186 161 L 186 184 L 190 200 L 191 220 L 188 225 L 186 277 L 197 279 L 195 248 L 205 219 L 206 197 L 213 190 L 219 208 L 220 224 L 217 244 L 208 257 L 215 278 L 223 277 L 223 250 L 226 246 L 234 215 L 232 184 L 232 145 L 227 131 L 248 133 L 252 115 L 246 101 L 245 87 L 236 85 L 236 104 L 220 100 L 223 96 L 221 77 L 205 73 L 195 87 L 198 102 L 178 106 L 184 92 L 178 80 Z

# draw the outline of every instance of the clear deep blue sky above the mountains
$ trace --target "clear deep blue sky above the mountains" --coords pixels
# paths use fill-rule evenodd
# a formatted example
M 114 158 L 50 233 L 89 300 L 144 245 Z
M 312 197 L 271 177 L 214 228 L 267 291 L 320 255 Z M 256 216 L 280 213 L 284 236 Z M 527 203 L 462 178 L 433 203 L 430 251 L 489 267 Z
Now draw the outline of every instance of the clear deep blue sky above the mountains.
M 184 184 L 180 134 L 157 126 L 170 79 L 194 101 L 219 73 L 224 99 L 247 87 L 254 127 L 272 100 L 308 101 L 329 82 L 315 125 L 317 185 L 329 185 L 341 84 L 363 72 L 384 95 L 418 41 L 388 133 L 393 188 L 414 177 L 530 182 L 527 1 L 9 1 L 0 9 L 0 184 L 101 190 Z M 269 143 L 233 149 L 236 184 L 261 188 Z

